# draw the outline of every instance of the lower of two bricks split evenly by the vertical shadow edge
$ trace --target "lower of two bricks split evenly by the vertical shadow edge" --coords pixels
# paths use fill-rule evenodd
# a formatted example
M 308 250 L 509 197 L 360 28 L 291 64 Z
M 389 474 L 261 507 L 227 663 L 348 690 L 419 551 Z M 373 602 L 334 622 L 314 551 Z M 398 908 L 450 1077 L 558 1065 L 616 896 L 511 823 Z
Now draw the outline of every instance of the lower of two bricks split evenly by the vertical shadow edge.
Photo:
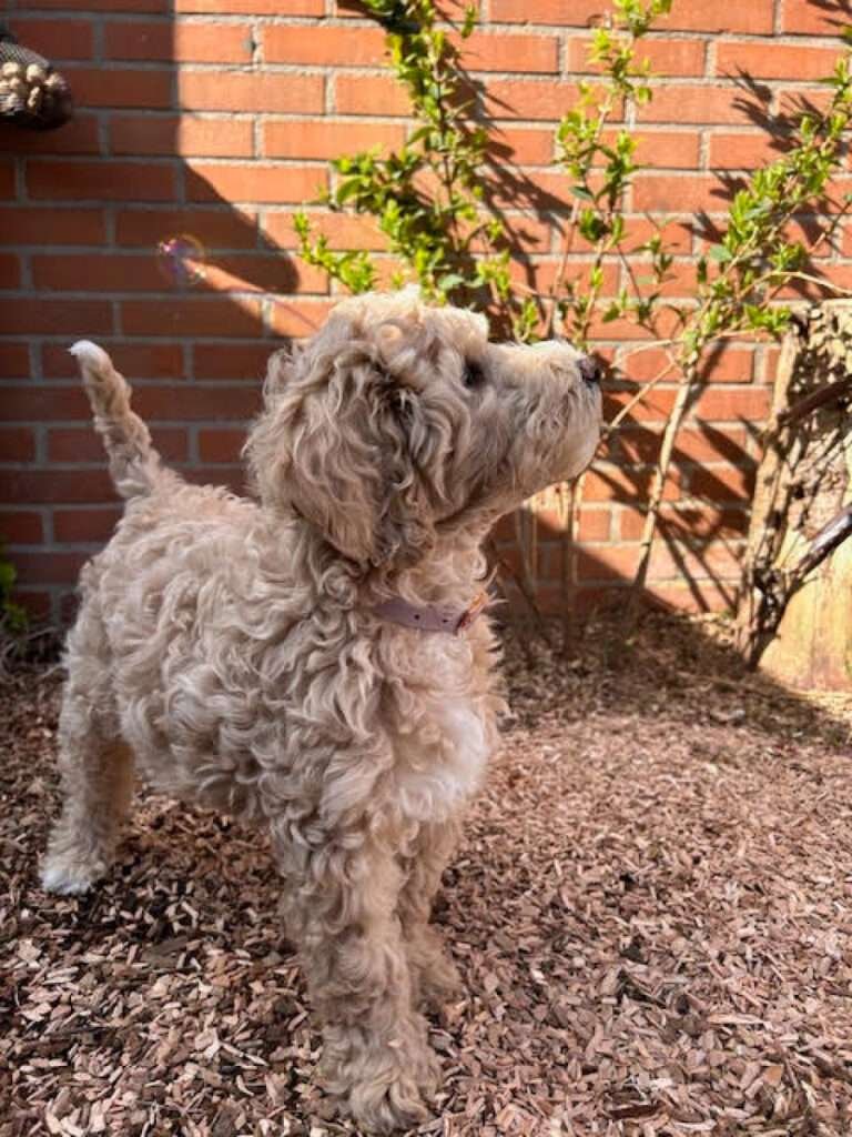
M 190 115 L 114 115 L 109 139 L 112 152 L 118 155 L 250 158 L 254 149 L 253 127 L 248 119 Z

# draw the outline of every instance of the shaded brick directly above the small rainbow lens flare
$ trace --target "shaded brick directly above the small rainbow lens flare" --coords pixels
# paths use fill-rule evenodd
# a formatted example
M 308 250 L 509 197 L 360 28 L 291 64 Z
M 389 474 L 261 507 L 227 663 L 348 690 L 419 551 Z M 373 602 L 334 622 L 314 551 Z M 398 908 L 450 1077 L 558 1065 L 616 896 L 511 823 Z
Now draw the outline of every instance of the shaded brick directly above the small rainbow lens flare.
M 258 240 L 257 217 L 239 209 L 120 209 L 116 219 L 118 244 L 153 250 L 160 241 L 190 234 L 211 249 L 251 249 Z

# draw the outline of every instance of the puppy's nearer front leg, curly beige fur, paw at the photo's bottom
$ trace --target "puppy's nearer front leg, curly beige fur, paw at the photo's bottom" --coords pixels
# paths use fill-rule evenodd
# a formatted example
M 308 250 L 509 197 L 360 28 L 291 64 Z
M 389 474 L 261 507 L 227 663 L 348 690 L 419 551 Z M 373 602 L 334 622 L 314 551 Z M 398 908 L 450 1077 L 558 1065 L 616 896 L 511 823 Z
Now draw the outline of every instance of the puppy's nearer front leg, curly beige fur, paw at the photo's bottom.
M 290 861 L 286 853 L 283 860 Z M 324 1030 L 323 1080 L 366 1129 L 390 1132 L 428 1117 L 438 1064 L 412 1005 L 392 841 L 328 835 L 284 901 Z

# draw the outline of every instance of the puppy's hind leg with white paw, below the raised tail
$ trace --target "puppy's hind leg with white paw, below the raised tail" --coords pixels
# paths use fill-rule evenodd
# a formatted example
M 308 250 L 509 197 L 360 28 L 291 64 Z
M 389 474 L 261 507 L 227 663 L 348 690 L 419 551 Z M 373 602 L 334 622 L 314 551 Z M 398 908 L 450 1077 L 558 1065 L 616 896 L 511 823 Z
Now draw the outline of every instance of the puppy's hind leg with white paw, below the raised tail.
M 106 641 L 95 621 L 82 612 L 69 638 L 59 716 L 62 813 L 41 869 L 52 893 L 84 893 L 107 872 L 133 796 L 133 756 L 118 738 Z

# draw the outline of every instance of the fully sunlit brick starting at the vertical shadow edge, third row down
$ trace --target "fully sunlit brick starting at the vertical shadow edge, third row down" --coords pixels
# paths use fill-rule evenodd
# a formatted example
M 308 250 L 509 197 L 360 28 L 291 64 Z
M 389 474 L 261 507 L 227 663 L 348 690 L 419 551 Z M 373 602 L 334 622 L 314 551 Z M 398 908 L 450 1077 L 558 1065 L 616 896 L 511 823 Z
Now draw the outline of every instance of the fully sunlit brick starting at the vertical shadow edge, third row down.
M 184 110 L 296 115 L 323 110 L 324 80 L 320 75 L 182 70 L 177 82 L 178 102 Z

